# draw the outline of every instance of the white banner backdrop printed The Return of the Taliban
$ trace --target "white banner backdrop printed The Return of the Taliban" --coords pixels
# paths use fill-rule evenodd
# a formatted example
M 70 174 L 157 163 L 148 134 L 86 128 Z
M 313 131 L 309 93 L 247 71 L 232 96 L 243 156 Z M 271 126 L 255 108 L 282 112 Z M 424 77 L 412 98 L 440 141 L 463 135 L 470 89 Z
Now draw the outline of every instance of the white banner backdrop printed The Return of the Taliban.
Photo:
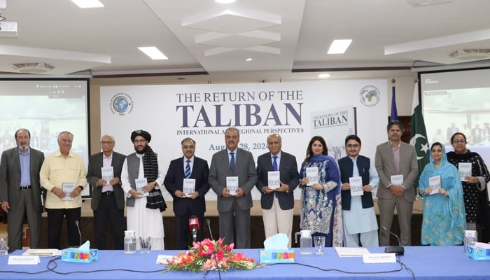
M 360 153 L 374 160 L 377 144 L 387 139 L 386 85 L 386 80 L 328 80 L 101 87 L 101 135 L 113 135 L 115 151 L 130 154 L 131 132 L 147 130 L 166 170 L 170 160 L 183 156 L 186 137 L 196 141 L 195 155 L 211 164 L 212 155 L 225 148 L 230 126 L 240 130 L 239 148 L 251 151 L 255 160 L 268 152 L 267 136 L 275 133 L 299 168 L 311 136 L 324 137 L 329 155 L 339 158 L 345 155 L 346 135 L 357 127 Z M 252 195 L 260 200 L 258 190 Z M 212 190 L 207 199 L 216 200 Z

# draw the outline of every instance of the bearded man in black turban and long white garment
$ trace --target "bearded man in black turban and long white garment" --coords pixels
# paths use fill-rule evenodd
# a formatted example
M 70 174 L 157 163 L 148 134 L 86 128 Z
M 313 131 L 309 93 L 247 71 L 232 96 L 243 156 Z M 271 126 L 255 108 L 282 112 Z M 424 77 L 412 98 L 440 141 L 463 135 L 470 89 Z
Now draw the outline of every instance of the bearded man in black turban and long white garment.
M 160 190 L 164 179 L 162 165 L 158 162 L 158 155 L 148 146 L 151 141 L 149 132 L 135 130 L 131 133 L 131 141 L 136 153 L 127 156 L 121 174 L 127 196 L 127 230 L 135 230 L 137 237 L 151 237 L 151 248 L 163 250 L 164 232 L 160 212 L 167 205 Z

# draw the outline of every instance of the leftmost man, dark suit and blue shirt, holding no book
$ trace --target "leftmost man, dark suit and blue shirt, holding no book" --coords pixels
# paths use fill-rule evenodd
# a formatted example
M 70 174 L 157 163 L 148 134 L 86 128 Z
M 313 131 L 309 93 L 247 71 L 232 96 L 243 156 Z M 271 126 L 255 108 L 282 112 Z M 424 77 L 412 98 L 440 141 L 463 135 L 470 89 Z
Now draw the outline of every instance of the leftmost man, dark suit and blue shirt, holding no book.
M 0 160 L 1 209 L 7 213 L 8 248 L 22 249 L 24 216 L 29 225 L 30 247 L 41 245 L 41 184 L 39 170 L 44 154 L 29 147 L 31 133 L 15 132 L 17 148 L 3 151 Z

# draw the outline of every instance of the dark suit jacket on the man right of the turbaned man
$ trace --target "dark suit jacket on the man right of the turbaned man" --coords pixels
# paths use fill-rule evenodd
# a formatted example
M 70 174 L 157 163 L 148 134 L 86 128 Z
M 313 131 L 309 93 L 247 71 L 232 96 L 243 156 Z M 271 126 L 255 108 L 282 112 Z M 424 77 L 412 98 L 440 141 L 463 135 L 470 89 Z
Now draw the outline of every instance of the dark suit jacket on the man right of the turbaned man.
M 190 198 L 176 197 L 174 195 L 176 190 L 183 189 L 183 179 L 186 178 L 183 159 L 184 157 L 177 158 L 170 162 L 167 175 L 163 181 L 165 188 L 167 188 L 174 198 L 174 214 L 176 216 L 181 216 L 186 213 L 204 215 L 204 212 L 206 211 L 206 200 L 204 195 L 206 195 L 209 190 L 208 162 L 194 156 L 193 171 L 190 173 L 190 179 L 195 179 L 195 190 L 199 193 L 199 197 L 193 200 Z

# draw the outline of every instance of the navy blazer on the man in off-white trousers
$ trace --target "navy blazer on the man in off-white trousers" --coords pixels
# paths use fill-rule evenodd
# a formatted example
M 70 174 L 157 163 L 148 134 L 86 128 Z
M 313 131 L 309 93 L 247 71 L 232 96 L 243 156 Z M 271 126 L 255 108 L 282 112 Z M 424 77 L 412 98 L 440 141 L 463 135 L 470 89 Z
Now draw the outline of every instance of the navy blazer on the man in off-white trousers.
M 284 153 L 281 151 L 281 161 L 279 162 L 279 172 L 281 174 L 281 182 L 289 186 L 287 192 L 273 192 L 263 193 L 262 187 L 267 186 L 269 183 L 269 176 L 267 172 L 273 171 L 271 153 L 265 153 L 260 155 L 257 159 L 257 175 L 258 180 L 255 187 L 260 191 L 260 206 L 262 209 L 271 209 L 274 202 L 274 193 L 277 193 L 277 200 L 279 200 L 279 206 L 283 210 L 294 208 L 294 196 L 293 190 L 297 188 L 300 183 L 300 174 L 297 173 L 297 162 L 294 155 Z

